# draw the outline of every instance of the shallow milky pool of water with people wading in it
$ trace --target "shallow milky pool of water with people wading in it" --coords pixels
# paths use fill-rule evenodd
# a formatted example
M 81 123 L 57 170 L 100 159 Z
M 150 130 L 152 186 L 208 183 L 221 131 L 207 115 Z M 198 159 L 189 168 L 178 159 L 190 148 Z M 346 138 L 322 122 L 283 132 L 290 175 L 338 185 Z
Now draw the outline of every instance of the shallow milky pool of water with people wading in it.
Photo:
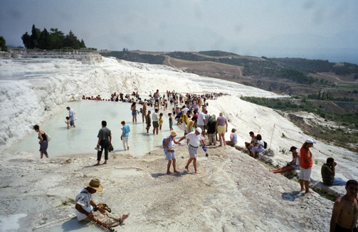
M 76 127 L 66 128 L 65 117 L 68 116 L 68 110 L 65 107 L 71 107 L 75 111 Z M 95 100 L 82 100 L 79 102 L 68 102 L 50 120 L 40 125 L 41 130 L 52 137 L 48 145 L 48 154 L 50 157 L 58 157 L 64 154 L 97 154 L 95 146 L 98 142 L 98 131 L 101 128 L 102 120 L 107 121 L 107 127 L 112 132 L 112 145 L 115 153 L 132 154 L 142 156 L 147 152 L 162 146 L 162 139 L 169 136 L 169 120 L 167 111 L 160 110 L 164 113 L 164 123 L 162 130 L 158 135 L 153 135 L 153 125 L 149 129 L 149 134 L 145 130 L 145 122 L 142 122 L 142 114 L 137 115 L 137 123 L 132 123 L 132 114 L 130 103 L 107 102 Z M 137 105 L 137 110 L 141 105 Z M 148 110 L 154 112 L 151 107 Z M 130 126 L 130 150 L 123 149 L 120 135 L 122 135 L 122 125 L 120 122 L 125 120 Z M 173 126 L 179 135 L 182 130 L 176 125 Z M 179 138 L 179 136 L 178 136 Z M 24 137 L 20 142 L 14 144 L 8 152 L 30 152 L 38 155 L 39 144 L 38 136 L 35 131 Z M 103 154 L 104 155 L 104 154 Z

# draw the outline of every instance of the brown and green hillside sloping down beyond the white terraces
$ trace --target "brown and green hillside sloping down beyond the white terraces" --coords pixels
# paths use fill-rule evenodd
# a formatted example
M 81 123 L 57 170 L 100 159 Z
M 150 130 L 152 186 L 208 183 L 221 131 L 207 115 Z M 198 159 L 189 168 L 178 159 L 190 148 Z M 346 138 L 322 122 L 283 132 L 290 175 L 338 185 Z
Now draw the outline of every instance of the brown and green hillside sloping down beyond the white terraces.
M 315 123 L 305 126 L 305 130 L 310 135 L 357 152 L 357 146 L 352 144 L 358 142 L 358 65 L 302 58 L 239 56 L 223 51 L 124 50 L 102 55 L 164 64 L 186 73 L 228 80 L 279 95 L 290 95 L 292 99 L 277 100 L 275 104 L 272 104 L 272 100 L 255 100 L 254 97 L 246 97 L 245 100 L 293 114 L 304 110 L 319 115 L 327 122 L 337 123 L 348 130 L 322 128 Z M 145 59 L 147 61 L 143 61 Z M 295 117 L 290 117 L 290 120 L 302 127 L 300 120 L 295 120 Z

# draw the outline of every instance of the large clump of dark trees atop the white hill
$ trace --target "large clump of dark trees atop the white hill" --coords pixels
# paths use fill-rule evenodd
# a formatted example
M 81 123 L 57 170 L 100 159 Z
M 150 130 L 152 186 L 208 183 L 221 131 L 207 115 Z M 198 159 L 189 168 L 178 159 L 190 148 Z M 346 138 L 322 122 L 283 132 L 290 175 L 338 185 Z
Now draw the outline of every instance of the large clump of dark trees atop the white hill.
M 58 28 L 51 28 L 50 31 L 43 28 L 43 31 L 40 31 L 40 29 L 33 25 L 31 35 L 26 32 L 21 36 L 21 39 L 25 48 L 28 49 L 39 48 L 43 50 L 53 50 L 61 48 L 86 48 L 85 41 L 83 41 L 83 39 L 81 39 L 81 41 L 78 40 L 72 31 L 65 35 L 62 31 L 58 31 Z

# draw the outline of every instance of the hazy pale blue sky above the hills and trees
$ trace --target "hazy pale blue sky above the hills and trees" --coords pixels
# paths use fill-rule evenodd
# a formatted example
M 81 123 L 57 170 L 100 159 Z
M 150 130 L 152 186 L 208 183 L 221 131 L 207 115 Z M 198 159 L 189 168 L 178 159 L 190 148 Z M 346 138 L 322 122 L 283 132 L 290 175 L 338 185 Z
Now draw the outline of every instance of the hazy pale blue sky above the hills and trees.
M 358 63 L 357 0 L 0 0 L 0 36 L 70 30 L 87 47 Z

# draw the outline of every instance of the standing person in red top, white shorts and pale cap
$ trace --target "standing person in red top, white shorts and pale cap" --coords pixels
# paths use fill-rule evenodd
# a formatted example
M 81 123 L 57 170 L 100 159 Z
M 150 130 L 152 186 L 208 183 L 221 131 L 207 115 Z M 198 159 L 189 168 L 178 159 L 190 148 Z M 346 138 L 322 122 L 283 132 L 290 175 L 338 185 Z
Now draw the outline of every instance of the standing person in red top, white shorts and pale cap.
M 310 147 L 313 147 L 315 142 L 313 139 L 306 139 L 306 142 L 302 144 L 300 149 L 300 186 L 301 191 L 305 190 L 305 194 L 312 193 L 310 191 L 310 176 L 312 172 L 312 152 L 310 151 Z M 305 188 L 303 187 L 305 185 Z

